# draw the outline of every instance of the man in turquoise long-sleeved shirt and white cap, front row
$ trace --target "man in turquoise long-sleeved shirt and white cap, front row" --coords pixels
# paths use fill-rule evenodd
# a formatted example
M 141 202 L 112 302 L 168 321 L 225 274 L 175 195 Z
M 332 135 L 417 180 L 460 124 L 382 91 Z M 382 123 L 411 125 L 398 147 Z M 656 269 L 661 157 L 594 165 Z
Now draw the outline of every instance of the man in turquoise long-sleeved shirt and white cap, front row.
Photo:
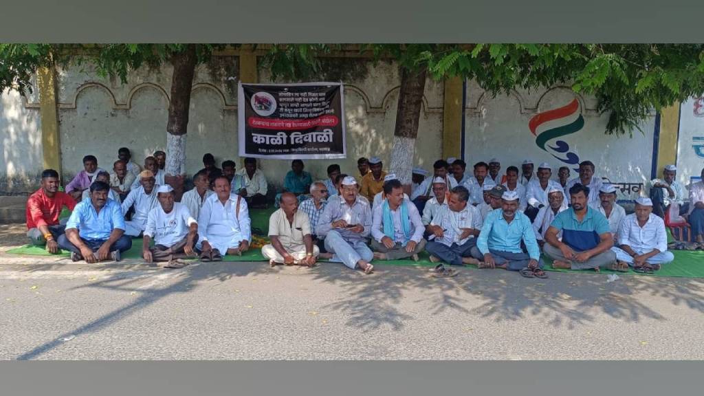
M 479 268 L 505 268 L 519 271 L 526 278 L 547 278 L 541 269 L 540 249 L 528 216 L 518 211 L 518 193 L 506 191 L 501 196 L 501 209 L 486 216 L 477 248 L 484 255 Z M 521 248 L 524 242 L 527 253 Z

